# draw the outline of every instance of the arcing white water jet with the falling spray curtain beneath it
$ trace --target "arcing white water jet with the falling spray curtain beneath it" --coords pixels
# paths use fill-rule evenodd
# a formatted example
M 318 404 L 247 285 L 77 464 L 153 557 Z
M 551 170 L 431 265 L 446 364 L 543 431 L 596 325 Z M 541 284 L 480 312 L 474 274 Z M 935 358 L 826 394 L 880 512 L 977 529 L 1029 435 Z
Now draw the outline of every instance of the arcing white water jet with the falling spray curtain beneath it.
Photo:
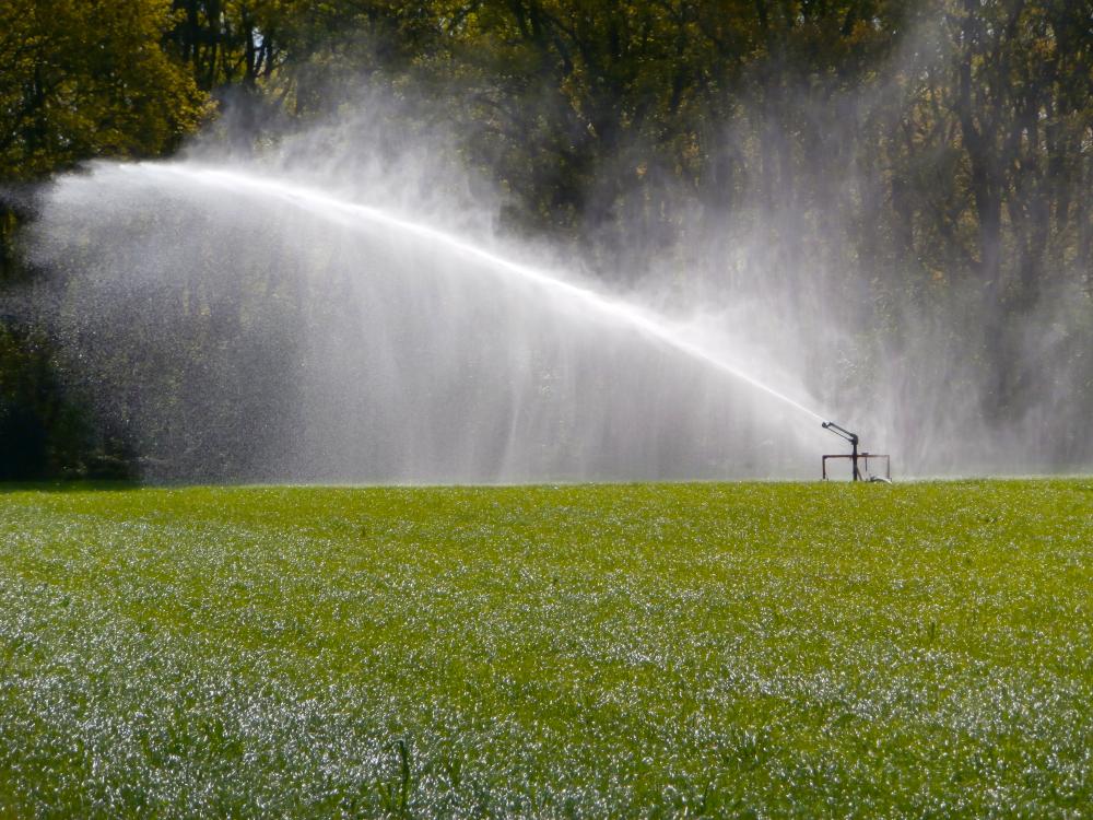
M 819 452 L 753 349 L 267 171 L 95 165 L 35 253 L 153 478 L 803 478 Z

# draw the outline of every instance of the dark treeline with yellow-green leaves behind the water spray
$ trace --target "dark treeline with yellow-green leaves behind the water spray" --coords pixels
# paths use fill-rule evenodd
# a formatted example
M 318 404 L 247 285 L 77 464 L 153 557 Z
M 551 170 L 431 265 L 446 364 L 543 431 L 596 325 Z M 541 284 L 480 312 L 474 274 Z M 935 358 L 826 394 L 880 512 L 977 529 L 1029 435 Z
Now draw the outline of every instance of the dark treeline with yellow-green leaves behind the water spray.
M 258 142 L 367 87 L 454 124 L 506 230 L 604 276 L 747 231 L 772 277 L 822 259 L 809 276 L 862 285 L 855 319 L 895 335 L 897 305 L 973 294 L 988 417 L 1032 400 L 1012 349 L 1068 294 L 1093 408 L 1091 52 L 1084 0 L 9 0 L 0 298 L 48 276 L 21 253 L 28 186 L 168 155 L 218 117 Z M 0 312 L 0 478 L 133 469 L 48 332 Z

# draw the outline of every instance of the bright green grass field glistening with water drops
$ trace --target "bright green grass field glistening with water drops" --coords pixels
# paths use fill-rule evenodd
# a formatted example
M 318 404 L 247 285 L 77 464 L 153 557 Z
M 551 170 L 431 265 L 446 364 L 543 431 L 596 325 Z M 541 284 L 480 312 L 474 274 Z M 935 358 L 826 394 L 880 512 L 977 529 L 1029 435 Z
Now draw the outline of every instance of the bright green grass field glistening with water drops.
M 0 493 L 0 816 L 1082 817 L 1093 480 Z

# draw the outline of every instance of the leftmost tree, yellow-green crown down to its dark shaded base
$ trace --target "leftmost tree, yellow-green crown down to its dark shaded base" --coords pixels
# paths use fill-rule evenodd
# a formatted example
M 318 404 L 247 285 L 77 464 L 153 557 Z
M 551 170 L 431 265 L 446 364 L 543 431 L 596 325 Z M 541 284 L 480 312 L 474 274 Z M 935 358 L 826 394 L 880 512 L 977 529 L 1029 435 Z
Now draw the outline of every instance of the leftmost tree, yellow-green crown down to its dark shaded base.
M 195 130 L 207 97 L 161 48 L 172 22 L 168 0 L 0 3 L 0 184 L 10 190 L 94 157 L 158 156 Z M 0 196 L 0 477 L 94 475 L 119 447 L 67 395 L 50 339 L 9 315 L 28 278 L 20 221 L 17 203 Z M 111 470 L 124 473 L 124 459 Z

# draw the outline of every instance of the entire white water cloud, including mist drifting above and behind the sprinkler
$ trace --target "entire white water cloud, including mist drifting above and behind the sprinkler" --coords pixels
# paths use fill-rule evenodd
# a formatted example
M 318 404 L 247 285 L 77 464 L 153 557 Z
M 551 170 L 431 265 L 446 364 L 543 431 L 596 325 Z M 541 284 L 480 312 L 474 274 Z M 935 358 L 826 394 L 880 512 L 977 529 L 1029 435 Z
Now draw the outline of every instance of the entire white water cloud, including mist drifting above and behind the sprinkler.
M 820 221 L 800 191 L 720 208 L 668 178 L 678 235 L 623 213 L 593 255 L 500 230 L 457 154 L 380 116 L 92 164 L 40 194 L 26 311 L 153 480 L 812 479 L 847 449 L 821 421 L 897 477 L 1093 457 L 1089 294 L 1045 294 L 990 351 L 1029 382 L 991 418 L 975 282 L 863 266 L 886 181 L 853 154 L 815 180 Z

